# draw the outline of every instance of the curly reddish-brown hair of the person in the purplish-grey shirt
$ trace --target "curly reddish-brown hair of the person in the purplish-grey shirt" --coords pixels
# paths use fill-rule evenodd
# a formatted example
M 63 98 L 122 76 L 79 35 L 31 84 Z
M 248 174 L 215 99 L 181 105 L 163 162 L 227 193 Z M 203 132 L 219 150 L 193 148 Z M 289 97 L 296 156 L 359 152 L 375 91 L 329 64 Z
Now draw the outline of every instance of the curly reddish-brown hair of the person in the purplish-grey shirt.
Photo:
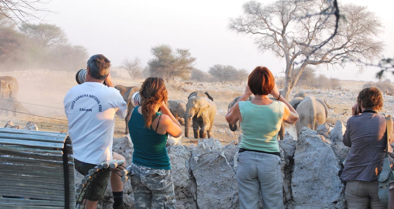
M 375 87 L 367 87 L 359 92 L 357 103 L 366 109 L 381 110 L 383 107 L 382 91 Z

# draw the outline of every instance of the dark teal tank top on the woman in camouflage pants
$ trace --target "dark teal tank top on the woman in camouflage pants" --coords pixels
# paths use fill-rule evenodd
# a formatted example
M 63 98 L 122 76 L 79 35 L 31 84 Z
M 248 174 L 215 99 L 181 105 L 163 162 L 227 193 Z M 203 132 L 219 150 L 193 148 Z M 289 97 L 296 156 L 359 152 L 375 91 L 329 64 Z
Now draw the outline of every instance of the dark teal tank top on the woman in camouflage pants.
M 161 114 L 156 112 L 156 117 Z M 138 107 L 134 108 L 131 118 L 128 121 L 128 130 L 131 141 L 134 145 L 134 164 L 148 168 L 170 170 L 170 159 L 165 148 L 168 134 L 158 134 L 153 129 L 145 127 L 145 120 L 138 112 Z

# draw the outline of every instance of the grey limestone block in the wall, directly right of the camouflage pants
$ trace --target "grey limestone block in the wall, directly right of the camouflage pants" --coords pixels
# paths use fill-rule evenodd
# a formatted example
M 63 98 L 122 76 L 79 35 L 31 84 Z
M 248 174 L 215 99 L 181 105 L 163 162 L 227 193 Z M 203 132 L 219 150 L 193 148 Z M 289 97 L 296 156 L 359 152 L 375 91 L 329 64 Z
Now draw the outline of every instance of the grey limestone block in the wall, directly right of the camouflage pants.
M 171 161 L 177 208 L 197 208 L 197 185 L 190 170 L 191 148 L 168 146 L 167 152 Z

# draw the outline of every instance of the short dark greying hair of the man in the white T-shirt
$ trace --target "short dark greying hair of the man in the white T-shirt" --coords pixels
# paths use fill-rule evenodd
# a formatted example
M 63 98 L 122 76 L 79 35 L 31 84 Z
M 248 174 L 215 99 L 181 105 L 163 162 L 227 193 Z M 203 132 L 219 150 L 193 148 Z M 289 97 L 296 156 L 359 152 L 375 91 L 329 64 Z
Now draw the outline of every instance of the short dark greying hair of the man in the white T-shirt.
M 87 60 L 91 77 L 104 80 L 110 73 L 111 61 L 102 54 L 93 55 Z

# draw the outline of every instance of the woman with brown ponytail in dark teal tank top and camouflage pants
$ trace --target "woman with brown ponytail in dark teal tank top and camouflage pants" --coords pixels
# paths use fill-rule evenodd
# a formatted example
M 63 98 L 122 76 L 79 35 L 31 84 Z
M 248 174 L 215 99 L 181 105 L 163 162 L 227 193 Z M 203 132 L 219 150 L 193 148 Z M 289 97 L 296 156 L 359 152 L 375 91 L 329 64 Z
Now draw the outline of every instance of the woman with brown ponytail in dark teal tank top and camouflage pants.
M 175 209 L 175 192 L 165 143 L 182 129 L 168 110 L 164 80 L 149 77 L 139 90 L 141 106 L 130 112 L 128 129 L 134 145 L 131 185 L 136 209 Z M 163 114 L 158 113 L 161 108 Z

